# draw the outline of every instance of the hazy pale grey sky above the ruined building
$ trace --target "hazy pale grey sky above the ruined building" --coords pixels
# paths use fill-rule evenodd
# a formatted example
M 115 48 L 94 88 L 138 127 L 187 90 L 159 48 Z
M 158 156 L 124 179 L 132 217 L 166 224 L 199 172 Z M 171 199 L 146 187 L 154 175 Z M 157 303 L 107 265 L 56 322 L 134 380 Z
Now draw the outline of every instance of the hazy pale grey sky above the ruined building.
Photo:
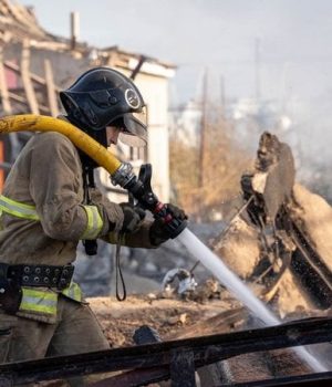
M 264 97 L 331 94 L 330 0 L 22 0 L 42 27 L 69 35 L 70 11 L 81 14 L 81 39 L 118 45 L 179 66 L 173 97 L 225 77 L 228 96 L 255 94 L 255 40 L 260 41 Z M 197 92 L 197 91 L 196 91 Z

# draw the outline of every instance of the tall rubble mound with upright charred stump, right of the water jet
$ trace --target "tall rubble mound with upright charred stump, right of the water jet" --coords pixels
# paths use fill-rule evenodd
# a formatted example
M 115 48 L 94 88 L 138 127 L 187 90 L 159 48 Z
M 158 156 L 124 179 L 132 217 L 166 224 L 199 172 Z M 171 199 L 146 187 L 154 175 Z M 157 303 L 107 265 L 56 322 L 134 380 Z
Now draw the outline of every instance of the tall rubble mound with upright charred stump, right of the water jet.
M 290 147 L 262 134 L 255 168 L 241 179 L 245 210 L 212 243 L 239 276 L 263 286 L 260 297 L 281 317 L 322 305 L 317 289 L 332 290 L 332 208 L 294 181 Z

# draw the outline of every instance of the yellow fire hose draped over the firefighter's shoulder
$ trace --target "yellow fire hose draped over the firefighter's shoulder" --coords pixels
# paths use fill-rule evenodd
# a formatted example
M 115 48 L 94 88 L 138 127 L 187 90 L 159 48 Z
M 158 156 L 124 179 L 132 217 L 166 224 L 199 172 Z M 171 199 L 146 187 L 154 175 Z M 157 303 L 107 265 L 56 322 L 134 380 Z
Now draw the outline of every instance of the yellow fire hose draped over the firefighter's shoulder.
M 0 133 L 12 132 L 58 132 L 66 136 L 77 148 L 89 155 L 111 175 L 120 168 L 121 161 L 105 147 L 74 125 L 59 118 L 23 114 L 0 118 Z

